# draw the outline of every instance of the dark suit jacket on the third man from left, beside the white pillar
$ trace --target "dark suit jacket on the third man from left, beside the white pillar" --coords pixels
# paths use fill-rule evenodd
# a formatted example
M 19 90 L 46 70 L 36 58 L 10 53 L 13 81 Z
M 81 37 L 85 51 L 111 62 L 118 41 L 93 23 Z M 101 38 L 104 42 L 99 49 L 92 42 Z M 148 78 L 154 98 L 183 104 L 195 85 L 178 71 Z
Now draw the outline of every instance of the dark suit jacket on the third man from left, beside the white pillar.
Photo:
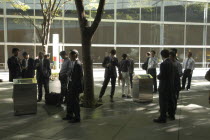
M 42 81 L 43 79 L 49 79 L 51 75 L 51 68 L 50 68 L 50 60 L 44 59 L 42 66 L 39 65 L 36 67 L 37 63 L 40 64 L 40 59 L 36 59 L 34 66 L 36 68 L 36 78 L 38 81 Z

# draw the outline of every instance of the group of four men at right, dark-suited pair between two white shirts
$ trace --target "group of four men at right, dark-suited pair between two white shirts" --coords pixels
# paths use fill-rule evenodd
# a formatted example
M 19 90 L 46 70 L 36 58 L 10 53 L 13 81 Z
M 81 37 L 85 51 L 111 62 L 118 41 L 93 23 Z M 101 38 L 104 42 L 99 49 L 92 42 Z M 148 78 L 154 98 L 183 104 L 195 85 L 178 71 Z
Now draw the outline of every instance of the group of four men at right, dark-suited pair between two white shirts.
M 163 62 L 160 64 L 160 73 L 156 76 L 158 62 L 154 54 L 155 52 L 151 51 L 151 56 L 147 60 L 147 73 L 153 76 L 154 92 L 159 92 L 160 116 L 154 119 L 154 122 L 166 123 L 167 118 L 175 120 L 179 92 L 181 89 L 185 89 L 186 78 L 188 78 L 186 89 L 190 89 L 195 61 L 192 58 L 192 53 L 189 52 L 188 58 L 183 61 L 184 73 L 182 73 L 182 65 L 177 59 L 177 49 L 171 49 L 170 52 L 162 50 L 160 54 Z M 180 78 L 182 76 L 181 85 Z M 158 89 L 156 77 L 159 80 Z

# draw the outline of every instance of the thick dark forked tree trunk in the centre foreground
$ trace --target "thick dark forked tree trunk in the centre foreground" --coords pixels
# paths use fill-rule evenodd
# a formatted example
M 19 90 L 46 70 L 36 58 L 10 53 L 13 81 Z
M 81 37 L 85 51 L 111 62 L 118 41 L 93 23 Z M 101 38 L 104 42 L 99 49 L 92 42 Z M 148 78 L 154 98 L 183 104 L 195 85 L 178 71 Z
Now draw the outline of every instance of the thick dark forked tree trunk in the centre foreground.
M 100 0 L 95 19 L 91 25 L 85 16 L 83 0 L 75 0 L 78 20 L 80 24 L 80 32 L 82 38 L 82 59 L 84 68 L 84 105 L 86 107 L 94 106 L 94 80 L 93 80 L 93 64 L 91 58 L 92 38 L 101 21 L 105 0 Z

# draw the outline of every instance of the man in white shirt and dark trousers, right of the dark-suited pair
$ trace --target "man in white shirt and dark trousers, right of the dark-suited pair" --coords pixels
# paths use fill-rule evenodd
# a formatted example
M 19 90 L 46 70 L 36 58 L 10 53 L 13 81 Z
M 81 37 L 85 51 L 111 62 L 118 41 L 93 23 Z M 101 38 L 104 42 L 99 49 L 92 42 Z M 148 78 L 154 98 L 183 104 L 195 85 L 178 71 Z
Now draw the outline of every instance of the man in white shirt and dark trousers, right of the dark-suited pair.
M 183 77 L 182 77 L 182 90 L 185 89 L 185 84 L 186 84 L 186 79 L 187 78 L 188 78 L 188 84 L 187 84 L 186 89 L 187 90 L 190 89 L 194 66 L 195 66 L 195 61 L 192 58 L 192 52 L 188 52 L 188 58 L 186 58 L 183 61 L 184 74 L 183 74 Z

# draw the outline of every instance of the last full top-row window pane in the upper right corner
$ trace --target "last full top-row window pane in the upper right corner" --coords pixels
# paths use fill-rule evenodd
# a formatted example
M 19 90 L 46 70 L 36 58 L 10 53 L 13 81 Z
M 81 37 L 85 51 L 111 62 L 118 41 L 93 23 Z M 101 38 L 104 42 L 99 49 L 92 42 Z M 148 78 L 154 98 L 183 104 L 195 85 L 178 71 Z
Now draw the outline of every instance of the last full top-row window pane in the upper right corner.
M 187 22 L 203 22 L 204 3 L 188 2 L 187 4 Z

